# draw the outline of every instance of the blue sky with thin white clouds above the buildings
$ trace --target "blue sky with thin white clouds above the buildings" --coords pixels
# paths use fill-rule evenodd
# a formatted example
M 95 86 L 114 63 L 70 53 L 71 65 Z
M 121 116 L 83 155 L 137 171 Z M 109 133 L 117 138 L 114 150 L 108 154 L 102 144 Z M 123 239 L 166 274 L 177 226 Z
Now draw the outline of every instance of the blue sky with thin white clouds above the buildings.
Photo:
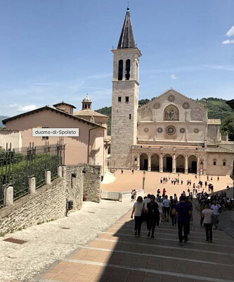
M 0 115 L 62 100 L 81 109 L 86 93 L 93 109 L 111 106 L 110 50 L 117 47 L 127 1 L 0 5 Z M 129 7 L 143 54 L 140 99 L 171 87 L 193 99 L 233 99 L 233 0 L 134 0 Z

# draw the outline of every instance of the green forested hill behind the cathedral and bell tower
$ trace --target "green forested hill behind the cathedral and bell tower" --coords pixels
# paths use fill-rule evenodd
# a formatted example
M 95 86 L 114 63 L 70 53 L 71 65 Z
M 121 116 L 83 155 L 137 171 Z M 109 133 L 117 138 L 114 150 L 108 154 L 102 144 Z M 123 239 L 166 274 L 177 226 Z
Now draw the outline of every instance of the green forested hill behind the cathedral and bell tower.
M 154 99 L 154 98 L 152 98 Z M 150 102 L 149 99 L 141 99 L 138 102 L 139 106 Z M 204 105 L 208 109 L 208 118 L 220 118 L 221 119 L 221 131 L 228 133 L 229 139 L 234 140 L 234 114 L 230 106 L 226 104 L 226 100 L 219 98 L 202 98 L 196 100 L 196 102 Z M 97 110 L 100 114 L 109 116 L 108 121 L 108 135 L 110 135 L 111 124 L 111 106 L 105 106 L 105 108 Z

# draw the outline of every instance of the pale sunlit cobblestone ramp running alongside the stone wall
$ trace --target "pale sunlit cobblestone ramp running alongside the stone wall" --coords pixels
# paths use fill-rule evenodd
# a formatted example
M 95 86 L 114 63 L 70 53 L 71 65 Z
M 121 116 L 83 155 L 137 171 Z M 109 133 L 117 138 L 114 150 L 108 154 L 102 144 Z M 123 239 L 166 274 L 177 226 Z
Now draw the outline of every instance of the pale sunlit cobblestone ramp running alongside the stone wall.
M 0 282 L 31 281 L 58 259 L 87 245 L 130 207 L 131 202 L 84 202 L 81 210 L 68 217 L 0 237 Z M 27 242 L 19 245 L 4 241 L 7 238 Z

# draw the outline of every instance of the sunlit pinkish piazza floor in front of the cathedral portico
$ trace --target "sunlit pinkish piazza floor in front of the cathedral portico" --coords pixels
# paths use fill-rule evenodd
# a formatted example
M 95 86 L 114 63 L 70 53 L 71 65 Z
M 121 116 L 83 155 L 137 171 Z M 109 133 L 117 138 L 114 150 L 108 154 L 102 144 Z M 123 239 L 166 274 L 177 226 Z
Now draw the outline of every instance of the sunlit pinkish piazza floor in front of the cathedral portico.
M 180 183 L 177 185 L 171 184 L 171 181 L 168 181 L 167 184 L 161 184 L 160 178 L 167 177 L 169 178 L 169 174 L 171 178 L 179 178 Z M 117 191 L 123 192 L 132 189 L 142 189 L 143 186 L 143 171 L 134 171 L 134 174 L 131 173 L 130 170 L 124 170 L 123 174 L 121 171 L 118 170 L 115 173 L 116 180 L 115 182 L 103 184 L 102 189 L 105 191 Z M 181 178 L 183 178 L 183 185 L 181 185 Z M 204 188 L 204 182 L 207 180 L 207 176 L 197 176 L 195 178 L 195 174 L 183 174 L 180 173 L 160 173 L 160 172 L 148 172 L 145 171 L 145 194 L 147 193 L 154 193 L 156 195 L 157 189 L 160 188 L 161 192 L 163 188 L 167 190 L 167 195 L 180 195 L 183 190 L 187 193 L 187 180 L 191 180 L 192 185 L 190 186 L 190 190 L 193 190 L 193 183 L 197 184 L 198 181 L 202 180 Z M 226 189 L 226 186 L 229 185 L 230 187 L 233 185 L 233 180 L 230 176 L 219 176 L 219 180 L 217 180 L 217 176 L 213 176 L 213 180 L 211 181 L 211 176 L 209 176 L 208 183 L 212 183 L 214 185 L 214 192 Z M 207 189 L 204 191 L 208 192 Z

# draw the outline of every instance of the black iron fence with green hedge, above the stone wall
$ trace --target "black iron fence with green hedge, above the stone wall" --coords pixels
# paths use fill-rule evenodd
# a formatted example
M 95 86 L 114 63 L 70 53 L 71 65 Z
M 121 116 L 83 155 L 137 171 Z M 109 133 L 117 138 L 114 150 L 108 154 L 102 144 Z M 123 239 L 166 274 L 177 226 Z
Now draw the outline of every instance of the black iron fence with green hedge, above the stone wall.
M 51 171 L 51 179 L 56 178 L 57 168 L 64 164 L 65 145 L 0 149 L 0 207 L 4 206 L 4 190 L 13 186 L 14 200 L 27 195 L 29 179 L 36 178 L 36 188 L 45 183 L 46 171 Z

